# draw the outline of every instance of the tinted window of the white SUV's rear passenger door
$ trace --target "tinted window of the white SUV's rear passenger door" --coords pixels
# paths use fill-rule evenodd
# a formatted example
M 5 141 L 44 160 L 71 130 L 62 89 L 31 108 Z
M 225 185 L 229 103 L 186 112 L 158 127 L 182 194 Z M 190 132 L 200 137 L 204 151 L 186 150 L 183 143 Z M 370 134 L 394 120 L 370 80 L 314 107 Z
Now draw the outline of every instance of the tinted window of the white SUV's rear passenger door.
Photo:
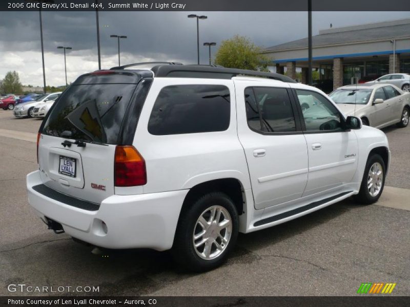
M 248 125 L 264 132 L 296 131 L 288 91 L 277 87 L 247 87 L 245 106 Z

